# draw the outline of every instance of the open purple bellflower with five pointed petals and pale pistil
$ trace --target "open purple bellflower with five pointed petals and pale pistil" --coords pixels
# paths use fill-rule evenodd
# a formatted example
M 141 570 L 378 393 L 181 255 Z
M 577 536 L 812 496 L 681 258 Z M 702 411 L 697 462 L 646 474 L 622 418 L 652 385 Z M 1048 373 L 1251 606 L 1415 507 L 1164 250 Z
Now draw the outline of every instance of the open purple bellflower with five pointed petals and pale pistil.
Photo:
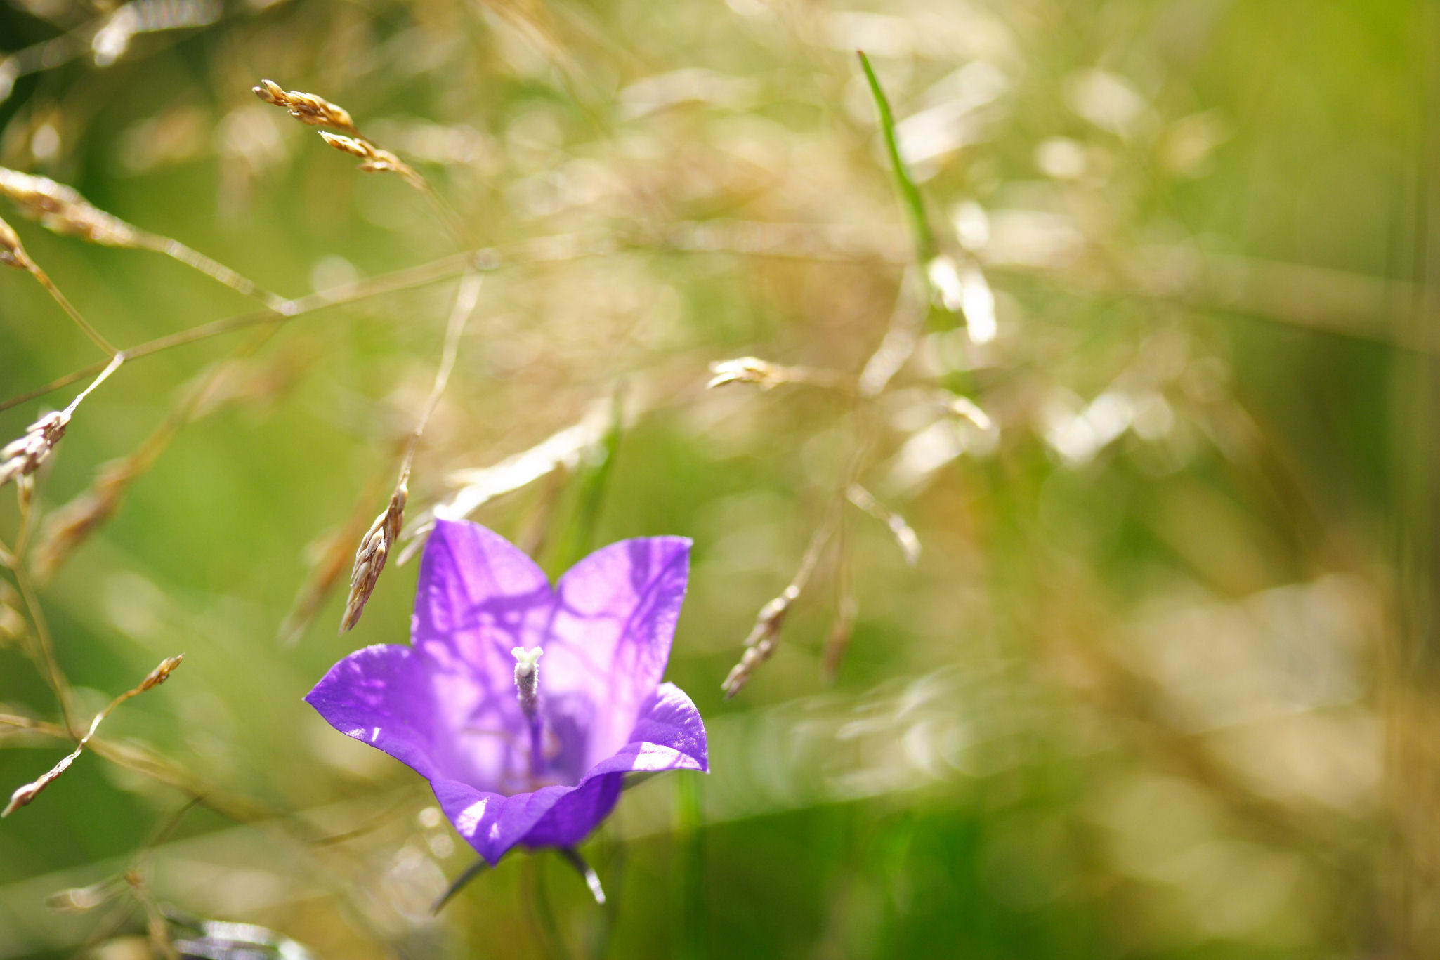
M 410 645 L 356 651 L 305 701 L 429 780 L 490 864 L 517 843 L 570 846 L 626 773 L 710 769 L 700 712 L 660 682 L 688 573 L 688 540 L 645 537 L 552 587 L 498 534 L 439 521 Z

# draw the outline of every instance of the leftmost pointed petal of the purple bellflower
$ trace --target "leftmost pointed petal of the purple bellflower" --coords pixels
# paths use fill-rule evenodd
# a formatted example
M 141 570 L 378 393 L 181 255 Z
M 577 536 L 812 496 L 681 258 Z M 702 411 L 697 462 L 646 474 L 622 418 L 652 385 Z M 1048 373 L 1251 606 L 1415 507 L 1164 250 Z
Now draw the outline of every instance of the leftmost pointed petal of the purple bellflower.
M 425 658 L 408 646 L 376 645 L 330 668 L 305 694 L 347 737 L 379 747 L 422 777 L 433 777 L 438 717 Z M 442 734 L 442 737 L 446 734 Z

